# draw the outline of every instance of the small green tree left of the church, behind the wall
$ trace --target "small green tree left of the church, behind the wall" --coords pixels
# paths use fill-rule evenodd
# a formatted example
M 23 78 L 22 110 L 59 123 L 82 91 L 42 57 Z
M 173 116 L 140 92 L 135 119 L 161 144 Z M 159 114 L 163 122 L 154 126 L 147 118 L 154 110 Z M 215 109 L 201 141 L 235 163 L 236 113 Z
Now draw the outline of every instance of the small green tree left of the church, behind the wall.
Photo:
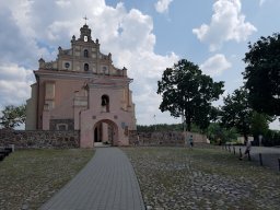
M 21 124 L 24 124 L 26 119 L 25 109 L 26 105 L 5 106 L 2 110 L 2 116 L 0 117 L 0 125 L 4 128 L 15 128 Z

